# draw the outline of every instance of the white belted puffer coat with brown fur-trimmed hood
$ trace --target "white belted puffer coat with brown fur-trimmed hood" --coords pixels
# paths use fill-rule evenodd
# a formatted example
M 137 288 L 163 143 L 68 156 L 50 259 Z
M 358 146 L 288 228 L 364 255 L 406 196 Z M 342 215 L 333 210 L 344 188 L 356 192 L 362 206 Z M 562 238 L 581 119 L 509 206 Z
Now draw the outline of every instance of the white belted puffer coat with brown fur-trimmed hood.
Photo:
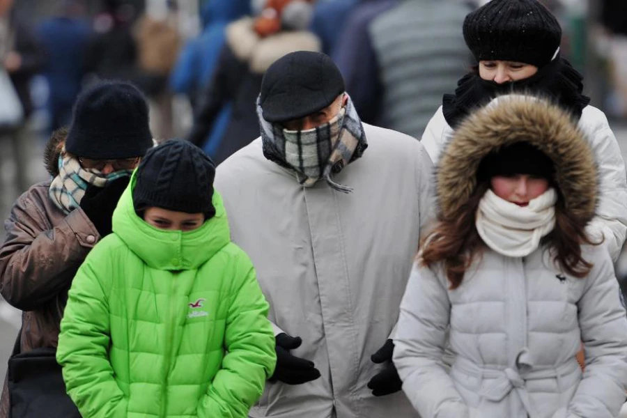
M 513 98 L 456 131 L 438 168 L 440 215 L 463 210 L 485 155 L 521 140 L 554 162 L 564 206 L 584 226 L 596 193 L 589 146 L 557 107 Z M 627 390 L 626 313 L 607 250 L 585 245 L 582 256 L 594 267 L 580 279 L 546 247 L 524 258 L 486 248 L 454 290 L 442 263 L 414 266 L 394 363 L 422 418 L 617 417 Z M 582 342 L 583 374 L 575 360 Z

